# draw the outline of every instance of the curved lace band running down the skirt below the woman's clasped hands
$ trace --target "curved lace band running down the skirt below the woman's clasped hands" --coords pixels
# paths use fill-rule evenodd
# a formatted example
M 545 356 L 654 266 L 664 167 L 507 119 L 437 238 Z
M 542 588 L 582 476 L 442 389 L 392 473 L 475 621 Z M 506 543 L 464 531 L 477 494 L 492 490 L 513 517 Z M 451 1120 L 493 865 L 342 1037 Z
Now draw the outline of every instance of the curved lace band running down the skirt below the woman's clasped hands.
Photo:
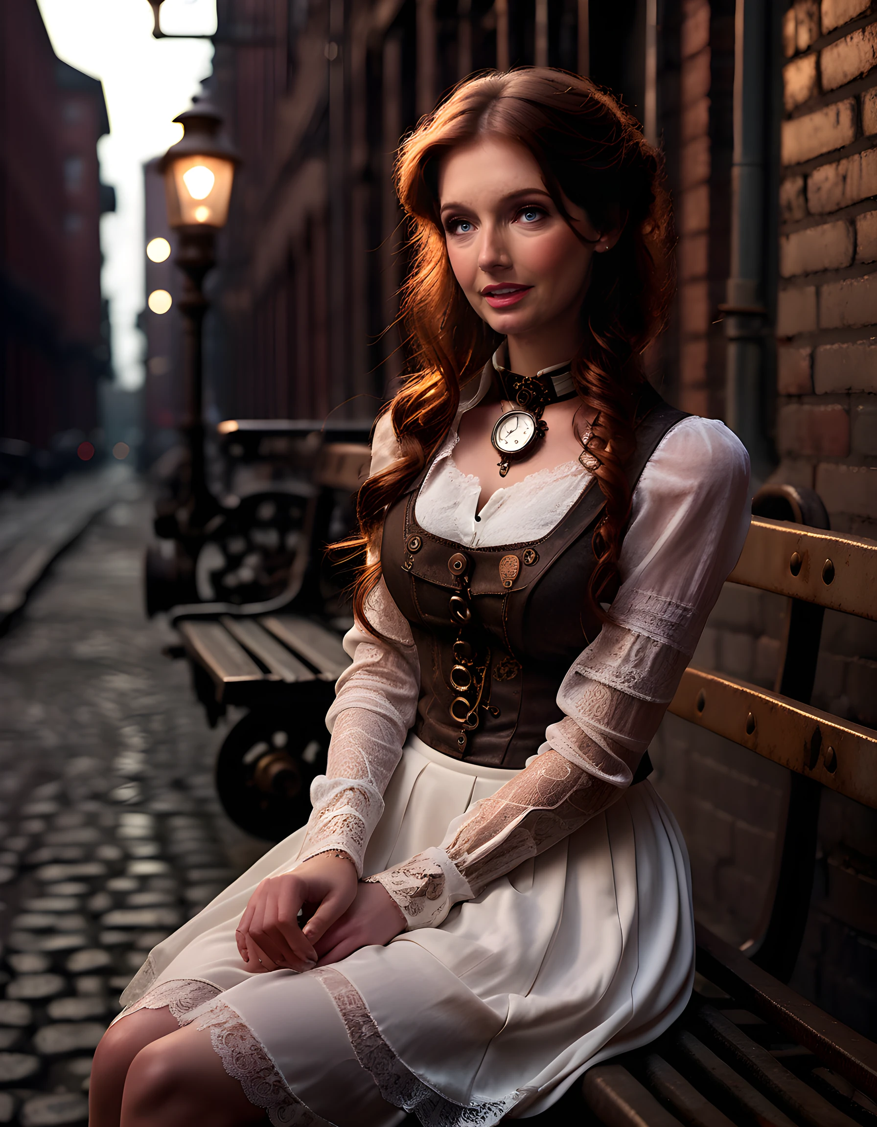
M 312 970 L 338 1009 L 356 1059 L 371 1073 L 388 1103 L 414 1112 L 424 1127 L 491 1127 L 523 1092 L 504 1100 L 460 1104 L 441 1095 L 410 1072 L 381 1036 L 360 992 L 334 967 Z

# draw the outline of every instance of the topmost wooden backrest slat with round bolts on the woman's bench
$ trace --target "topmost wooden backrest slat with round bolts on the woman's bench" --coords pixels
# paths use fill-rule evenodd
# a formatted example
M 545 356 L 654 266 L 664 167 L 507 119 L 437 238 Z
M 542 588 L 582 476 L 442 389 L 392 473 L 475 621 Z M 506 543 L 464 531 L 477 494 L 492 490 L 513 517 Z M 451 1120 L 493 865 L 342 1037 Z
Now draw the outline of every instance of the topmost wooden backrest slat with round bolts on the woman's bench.
M 796 561 L 794 575 L 790 565 L 796 553 L 800 565 Z M 877 541 L 863 536 L 753 516 L 728 579 L 877 620 Z

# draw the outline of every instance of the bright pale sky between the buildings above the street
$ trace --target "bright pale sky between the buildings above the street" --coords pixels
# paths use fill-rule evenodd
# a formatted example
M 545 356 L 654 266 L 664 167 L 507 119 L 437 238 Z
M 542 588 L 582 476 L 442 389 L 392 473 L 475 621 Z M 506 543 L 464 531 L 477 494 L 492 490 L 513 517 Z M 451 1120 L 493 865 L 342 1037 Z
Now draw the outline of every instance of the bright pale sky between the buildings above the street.
M 116 189 L 117 211 L 101 220 L 103 284 L 110 300 L 116 378 L 138 388 L 143 338 L 135 320 L 145 300 L 142 165 L 179 140 L 180 126 L 172 121 L 210 74 L 213 46 L 209 39 L 153 39 L 148 0 L 38 3 L 55 54 L 104 83 L 110 134 L 98 152 L 101 177 Z M 165 0 L 161 26 L 210 34 L 215 0 Z

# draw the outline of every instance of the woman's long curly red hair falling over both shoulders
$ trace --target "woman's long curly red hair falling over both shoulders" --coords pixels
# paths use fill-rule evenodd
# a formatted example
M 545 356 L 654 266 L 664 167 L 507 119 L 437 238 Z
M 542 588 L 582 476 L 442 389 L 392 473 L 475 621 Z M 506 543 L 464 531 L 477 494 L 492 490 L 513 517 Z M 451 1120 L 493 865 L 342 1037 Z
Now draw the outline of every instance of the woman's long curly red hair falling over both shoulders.
M 460 388 L 477 375 L 498 337 L 469 304 L 451 269 L 440 219 L 442 158 L 479 135 L 525 145 L 567 221 L 564 196 L 583 207 L 599 231 L 623 227 L 611 251 L 594 255 L 582 307 L 582 346 L 572 374 L 582 402 L 596 412 L 587 441 L 605 497 L 594 536 L 596 567 L 588 601 L 603 618 L 601 595 L 618 579 L 630 516 L 626 463 L 634 451 L 637 405 L 646 389 L 643 352 L 666 322 L 672 295 L 672 215 L 661 154 L 636 121 L 586 78 L 549 68 L 489 73 L 458 86 L 402 142 L 396 187 L 410 225 L 411 269 L 402 287 L 402 321 L 413 374 L 389 411 L 400 458 L 360 489 L 360 531 L 342 544 L 362 551 L 380 535 L 383 516 L 448 433 Z M 354 607 L 380 579 L 366 564 Z

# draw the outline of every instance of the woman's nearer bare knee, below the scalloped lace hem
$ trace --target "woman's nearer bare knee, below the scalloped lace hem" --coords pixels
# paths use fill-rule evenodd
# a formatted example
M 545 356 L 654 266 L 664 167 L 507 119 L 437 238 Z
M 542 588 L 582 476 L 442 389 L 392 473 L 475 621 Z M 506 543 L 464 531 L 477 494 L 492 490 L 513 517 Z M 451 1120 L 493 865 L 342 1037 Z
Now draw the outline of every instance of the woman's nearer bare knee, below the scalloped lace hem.
M 209 1030 L 186 1026 L 151 1041 L 129 1068 L 122 1127 L 243 1127 L 264 1118 L 223 1068 Z

